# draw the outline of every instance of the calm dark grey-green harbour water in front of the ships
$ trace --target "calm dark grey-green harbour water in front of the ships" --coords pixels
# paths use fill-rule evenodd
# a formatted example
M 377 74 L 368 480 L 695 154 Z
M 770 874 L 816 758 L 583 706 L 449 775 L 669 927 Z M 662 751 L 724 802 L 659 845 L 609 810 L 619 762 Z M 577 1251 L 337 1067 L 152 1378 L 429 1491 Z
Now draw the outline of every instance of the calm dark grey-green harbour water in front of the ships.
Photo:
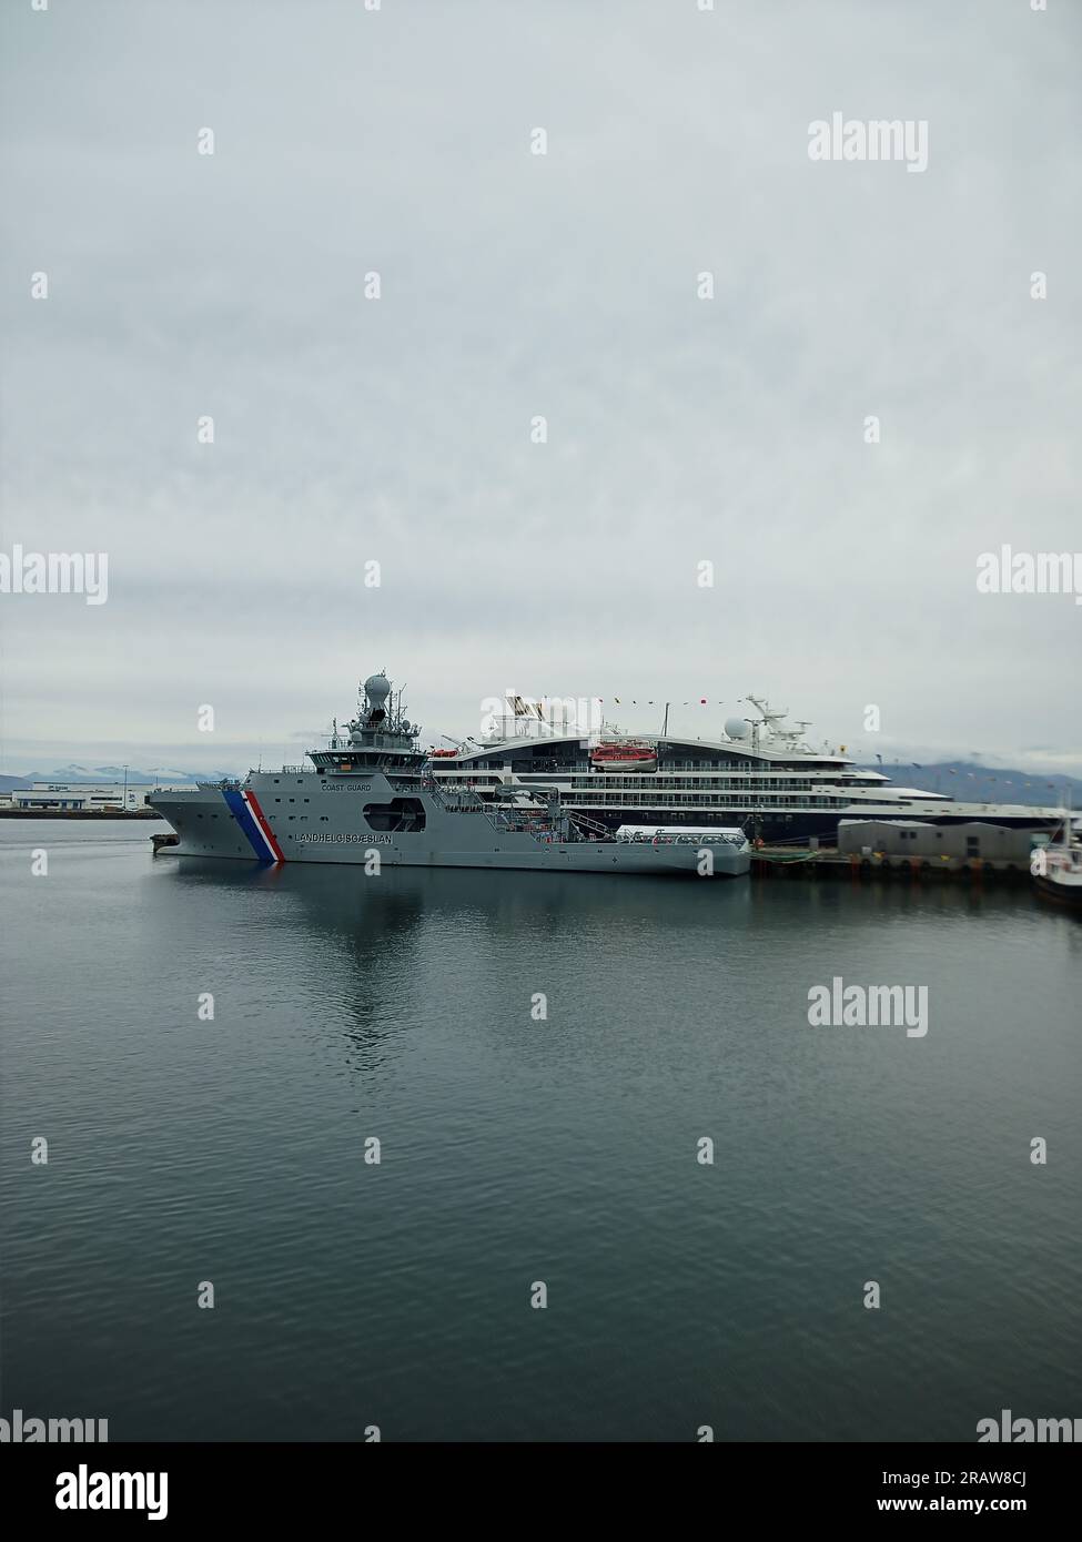
M 0 823 L 5 1416 L 213 1440 L 1082 1416 L 1077 921 L 1026 890 L 267 871 L 151 859 L 153 828 Z M 928 985 L 926 1038 L 809 1027 L 833 975 Z

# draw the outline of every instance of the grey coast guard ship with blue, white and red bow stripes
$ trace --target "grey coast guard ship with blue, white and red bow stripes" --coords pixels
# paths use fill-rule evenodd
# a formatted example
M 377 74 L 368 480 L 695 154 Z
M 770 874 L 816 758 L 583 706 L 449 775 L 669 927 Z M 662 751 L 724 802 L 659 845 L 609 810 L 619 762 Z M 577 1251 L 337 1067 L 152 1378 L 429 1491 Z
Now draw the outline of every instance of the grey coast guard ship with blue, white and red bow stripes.
M 508 788 L 486 802 L 437 783 L 383 674 L 361 688 L 357 717 L 335 725 L 312 766 L 249 771 L 242 782 L 156 791 L 147 802 L 178 834 L 181 856 L 255 862 L 523 868 L 556 873 L 688 873 L 736 877 L 752 848 L 742 830 L 620 827 L 568 811 L 557 788 Z M 378 870 L 378 867 L 377 867 Z

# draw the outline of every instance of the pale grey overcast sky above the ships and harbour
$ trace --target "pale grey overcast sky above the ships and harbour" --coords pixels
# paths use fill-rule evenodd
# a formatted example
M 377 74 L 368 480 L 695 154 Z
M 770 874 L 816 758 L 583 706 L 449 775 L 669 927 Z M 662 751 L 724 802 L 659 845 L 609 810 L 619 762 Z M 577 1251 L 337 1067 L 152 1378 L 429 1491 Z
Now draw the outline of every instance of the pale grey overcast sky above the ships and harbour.
M 0 547 L 110 566 L 0 597 L 0 771 L 299 759 L 377 668 L 1082 771 L 1082 608 L 975 586 L 1082 547 L 1082 6 L 698 3 L 5 0 Z

